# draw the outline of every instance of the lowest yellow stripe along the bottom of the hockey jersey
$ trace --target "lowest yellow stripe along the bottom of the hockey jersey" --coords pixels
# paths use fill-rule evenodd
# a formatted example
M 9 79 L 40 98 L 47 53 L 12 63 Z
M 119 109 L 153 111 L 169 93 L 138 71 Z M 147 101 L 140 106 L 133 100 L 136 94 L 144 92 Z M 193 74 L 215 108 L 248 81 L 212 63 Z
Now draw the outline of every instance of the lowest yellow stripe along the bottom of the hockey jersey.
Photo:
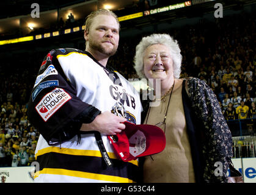
M 87 179 L 103 180 L 108 182 L 133 183 L 133 180 L 130 180 L 124 177 L 107 176 L 104 174 L 95 174 L 90 172 L 71 171 L 67 169 L 53 169 L 53 168 L 44 168 L 42 171 L 35 172 L 34 179 L 37 178 L 40 174 L 54 174 L 54 175 L 62 175 L 62 176 L 82 177 Z

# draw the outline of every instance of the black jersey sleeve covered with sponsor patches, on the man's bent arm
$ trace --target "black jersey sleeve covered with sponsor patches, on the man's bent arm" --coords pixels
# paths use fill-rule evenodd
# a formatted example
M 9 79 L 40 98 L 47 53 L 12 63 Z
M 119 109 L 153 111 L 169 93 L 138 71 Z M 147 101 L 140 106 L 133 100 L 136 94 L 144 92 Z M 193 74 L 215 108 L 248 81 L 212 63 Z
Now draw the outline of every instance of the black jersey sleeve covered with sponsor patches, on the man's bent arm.
M 101 112 L 76 96 L 56 56 L 50 51 L 38 71 L 28 103 L 31 124 L 48 144 L 59 144 L 79 134 L 82 123 L 90 123 Z

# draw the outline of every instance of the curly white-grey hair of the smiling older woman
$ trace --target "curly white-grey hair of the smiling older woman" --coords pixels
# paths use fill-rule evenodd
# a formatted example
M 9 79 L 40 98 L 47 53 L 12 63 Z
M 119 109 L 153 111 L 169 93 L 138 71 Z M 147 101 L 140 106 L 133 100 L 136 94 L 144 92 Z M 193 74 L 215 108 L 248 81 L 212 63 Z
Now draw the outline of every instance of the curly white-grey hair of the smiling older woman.
M 174 78 L 179 79 L 181 73 L 181 60 L 180 47 L 178 41 L 174 40 L 168 34 L 152 34 L 147 37 L 143 37 L 141 42 L 136 46 L 136 54 L 134 56 L 134 69 L 140 78 L 145 78 L 143 59 L 145 50 L 148 46 L 153 44 L 163 44 L 170 50 L 170 56 L 174 61 Z

